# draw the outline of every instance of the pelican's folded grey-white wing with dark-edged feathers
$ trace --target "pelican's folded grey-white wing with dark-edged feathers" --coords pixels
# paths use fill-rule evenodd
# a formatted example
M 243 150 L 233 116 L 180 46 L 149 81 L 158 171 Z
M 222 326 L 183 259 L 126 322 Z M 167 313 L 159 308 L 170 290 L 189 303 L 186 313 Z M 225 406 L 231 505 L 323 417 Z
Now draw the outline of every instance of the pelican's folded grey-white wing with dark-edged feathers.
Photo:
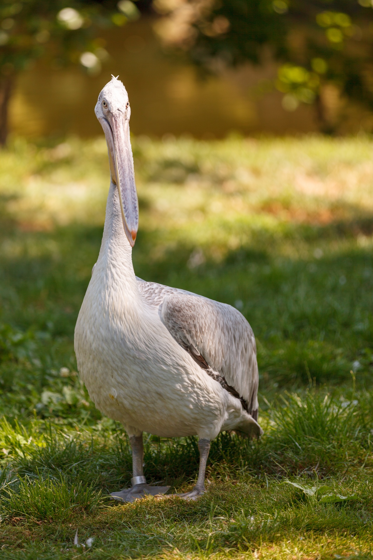
M 234 307 L 191 292 L 138 279 L 141 295 L 160 306 L 169 333 L 202 368 L 224 377 L 256 419 L 258 365 L 254 333 Z M 224 385 L 223 385 L 224 386 Z

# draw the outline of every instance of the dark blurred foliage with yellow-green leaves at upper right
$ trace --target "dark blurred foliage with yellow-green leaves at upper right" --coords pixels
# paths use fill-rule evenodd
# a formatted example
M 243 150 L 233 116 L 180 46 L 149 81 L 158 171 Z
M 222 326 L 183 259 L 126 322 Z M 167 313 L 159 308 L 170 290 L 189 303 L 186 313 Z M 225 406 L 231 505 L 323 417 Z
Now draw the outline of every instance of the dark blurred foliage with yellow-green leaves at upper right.
M 330 83 L 373 109 L 370 0 L 154 0 L 154 7 L 160 38 L 201 67 L 259 63 L 269 47 L 282 63 L 275 87 L 289 109 L 319 102 Z

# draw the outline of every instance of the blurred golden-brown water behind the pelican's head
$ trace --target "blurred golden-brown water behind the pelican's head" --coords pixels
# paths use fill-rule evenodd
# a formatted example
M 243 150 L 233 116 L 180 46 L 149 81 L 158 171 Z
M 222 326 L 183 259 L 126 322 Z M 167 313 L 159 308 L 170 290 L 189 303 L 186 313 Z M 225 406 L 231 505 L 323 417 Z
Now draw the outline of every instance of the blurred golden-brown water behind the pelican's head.
M 276 78 L 274 62 L 202 74 L 180 53 L 164 51 L 154 34 L 154 21 L 154 15 L 145 13 L 136 22 L 102 32 L 110 56 L 97 76 L 84 72 L 82 65 L 58 70 L 44 61 L 32 65 L 15 85 L 10 130 L 29 138 L 97 136 L 100 125 L 92 108 L 110 74 L 119 74 L 129 92 L 134 134 L 187 133 L 211 139 L 232 131 L 284 134 L 318 129 L 314 106 L 303 104 L 289 111 L 281 105 L 283 94 L 271 83 Z M 263 82 L 272 91 L 258 95 Z M 350 128 L 356 125 L 361 127 L 351 123 Z

